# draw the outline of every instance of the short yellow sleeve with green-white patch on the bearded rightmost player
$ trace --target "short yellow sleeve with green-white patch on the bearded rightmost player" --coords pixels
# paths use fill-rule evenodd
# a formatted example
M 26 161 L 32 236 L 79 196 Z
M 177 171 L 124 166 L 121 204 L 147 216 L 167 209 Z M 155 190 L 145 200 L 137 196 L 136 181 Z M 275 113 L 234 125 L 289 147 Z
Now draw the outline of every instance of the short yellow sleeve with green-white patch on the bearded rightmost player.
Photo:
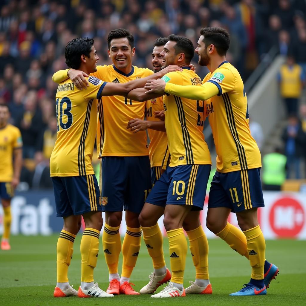
M 214 71 L 207 82 L 215 84 L 219 90 L 218 95 L 222 95 L 226 92 L 232 91 L 235 88 L 236 80 L 232 71 L 220 67 Z

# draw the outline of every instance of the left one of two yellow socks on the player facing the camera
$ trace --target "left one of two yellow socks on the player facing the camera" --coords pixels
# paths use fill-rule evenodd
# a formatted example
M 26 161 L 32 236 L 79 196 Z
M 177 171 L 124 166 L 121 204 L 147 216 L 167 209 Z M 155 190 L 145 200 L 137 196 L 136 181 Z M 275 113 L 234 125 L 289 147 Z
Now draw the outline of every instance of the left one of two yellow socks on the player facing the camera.
M 108 272 L 118 273 L 119 255 L 121 252 L 120 226 L 112 227 L 105 223 L 102 236 L 103 250 Z

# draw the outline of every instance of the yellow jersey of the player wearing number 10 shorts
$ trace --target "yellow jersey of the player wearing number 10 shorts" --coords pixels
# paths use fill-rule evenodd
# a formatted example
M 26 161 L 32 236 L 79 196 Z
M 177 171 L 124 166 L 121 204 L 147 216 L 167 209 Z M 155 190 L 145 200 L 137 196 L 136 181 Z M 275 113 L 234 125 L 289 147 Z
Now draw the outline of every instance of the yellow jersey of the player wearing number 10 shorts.
M 201 86 L 200 77 L 189 67 L 167 73 L 166 83 Z M 179 165 L 211 165 L 211 157 L 204 140 L 204 101 L 164 95 L 165 127 L 171 155 L 170 167 Z

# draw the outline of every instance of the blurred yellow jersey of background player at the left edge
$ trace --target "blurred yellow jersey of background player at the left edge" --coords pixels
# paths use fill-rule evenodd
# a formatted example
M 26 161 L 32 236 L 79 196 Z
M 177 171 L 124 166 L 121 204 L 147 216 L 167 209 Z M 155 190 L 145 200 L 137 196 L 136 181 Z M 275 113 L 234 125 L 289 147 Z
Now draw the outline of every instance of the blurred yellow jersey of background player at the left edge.
M 13 179 L 13 150 L 22 148 L 20 130 L 11 124 L 0 129 L 0 182 Z

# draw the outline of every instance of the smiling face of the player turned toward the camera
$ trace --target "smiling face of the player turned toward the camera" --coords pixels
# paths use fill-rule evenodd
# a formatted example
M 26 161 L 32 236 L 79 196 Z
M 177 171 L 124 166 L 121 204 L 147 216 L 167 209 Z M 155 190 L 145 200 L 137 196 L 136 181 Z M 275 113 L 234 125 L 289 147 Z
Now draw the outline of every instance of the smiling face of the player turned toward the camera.
M 113 39 L 110 42 L 108 55 L 118 69 L 124 69 L 132 64 L 132 56 L 135 55 L 135 48 L 131 48 L 129 40 L 124 38 Z

